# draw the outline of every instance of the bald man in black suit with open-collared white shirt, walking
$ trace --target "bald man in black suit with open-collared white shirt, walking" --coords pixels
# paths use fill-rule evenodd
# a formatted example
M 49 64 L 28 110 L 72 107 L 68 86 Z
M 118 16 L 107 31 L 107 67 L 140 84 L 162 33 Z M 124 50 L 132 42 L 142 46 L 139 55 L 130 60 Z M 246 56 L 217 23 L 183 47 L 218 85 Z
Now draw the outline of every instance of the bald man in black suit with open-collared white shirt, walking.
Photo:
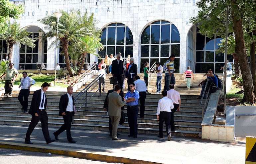
M 59 116 L 62 116 L 64 119 L 64 124 L 61 126 L 59 130 L 53 133 L 56 140 L 59 140 L 58 136 L 66 130 L 67 141 L 69 143 L 76 143 L 71 137 L 71 123 L 72 117 L 76 114 L 74 111 L 74 97 L 72 96 L 73 88 L 71 86 L 67 87 L 67 93 L 61 96 L 59 103 Z

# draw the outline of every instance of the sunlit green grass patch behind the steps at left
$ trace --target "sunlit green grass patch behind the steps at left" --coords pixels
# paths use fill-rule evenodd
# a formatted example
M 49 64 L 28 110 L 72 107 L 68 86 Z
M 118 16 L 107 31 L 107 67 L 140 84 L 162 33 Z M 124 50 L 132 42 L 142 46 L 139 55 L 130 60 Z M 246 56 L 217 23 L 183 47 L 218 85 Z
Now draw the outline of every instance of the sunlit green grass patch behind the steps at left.
M 51 83 L 51 87 L 68 87 L 68 84 L 63 84 L 63 83 L 56 83 L 55 86 L 54 86 L 54 74 L 52 75 L 44 75 L 44 74 L 33 74 L 33 73 L 28 73 L 28 76 L 33 78 L 36 83 L 33 85 L 33 86 L 37 86 L 37 87 L 41 87 L 42 84 L 44 82 L 47 82 L 47 83 Z M 20 78 L 23 77 L 22 76 L 22 73 L 19 73 L 17 78 L 16 78 L 16 81 L 14 82 L 14 85 L 20 85 Z M 2 80 L 3 81 L 3 80 Z M 4 87 L 4 81 L 2 82 L 0 81 L 0 87 Z

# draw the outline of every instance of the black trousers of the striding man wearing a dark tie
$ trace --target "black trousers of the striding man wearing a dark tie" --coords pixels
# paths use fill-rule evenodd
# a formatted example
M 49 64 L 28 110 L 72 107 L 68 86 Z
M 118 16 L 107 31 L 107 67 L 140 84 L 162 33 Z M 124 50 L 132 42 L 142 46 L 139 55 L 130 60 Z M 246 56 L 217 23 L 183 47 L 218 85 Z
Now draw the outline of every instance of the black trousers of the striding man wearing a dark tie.
M 37 123 L 41 121 L 41 126 L 42 126 L 42 131 L 43 135 L 45 137 L 45 141 L 48 142 L 51 140 L 50 135 L 49 135 L 49 130 L 48 130 L 48 116 L 47 112 L 45 110 L 40 111 L 38 113 L 39 116 L 32 116 L 31 122 L 29 124 L 29 128 L 26 133 L 26 138 L 25 141 L 30 141 L 30 135 L 37 126 Z

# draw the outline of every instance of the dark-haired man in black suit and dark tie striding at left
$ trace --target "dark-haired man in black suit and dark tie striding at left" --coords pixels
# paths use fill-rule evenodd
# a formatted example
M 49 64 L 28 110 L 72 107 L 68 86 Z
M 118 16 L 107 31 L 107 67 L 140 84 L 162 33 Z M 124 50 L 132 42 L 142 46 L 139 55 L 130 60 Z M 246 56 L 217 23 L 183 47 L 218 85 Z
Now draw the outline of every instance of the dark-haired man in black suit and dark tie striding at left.
M 30 135 L 35 129 L 37 123 L 41 121 L 42 131 L 45 137 L 45 141 L 47 144 L 54 142 L 49 135 L 48 130 L 48 116 L 47 112 L 45 111 L 47 105 L 47 98 L 45 96 L 45 92 L 48 90 L 50 85 L 45 82 L 42 84 L 42 88 L 35 91 L 32 97 L 29 114 L 32 115 L 31 122 L 29 124 L 29 128 L 26 133 L 25 144 L 33 144 L 30 141 Z

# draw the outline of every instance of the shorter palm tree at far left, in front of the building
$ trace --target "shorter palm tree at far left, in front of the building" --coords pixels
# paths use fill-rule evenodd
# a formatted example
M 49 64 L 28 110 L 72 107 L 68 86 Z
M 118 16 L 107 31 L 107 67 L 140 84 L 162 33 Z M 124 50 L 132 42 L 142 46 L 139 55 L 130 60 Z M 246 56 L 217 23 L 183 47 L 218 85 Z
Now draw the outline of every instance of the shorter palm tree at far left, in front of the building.
M 21 44 L 26 44 L 29 47 L 34 48 L 36 45 L 34 42 L 36 40 L 30 38 L 32 36 L 29 31 L 26 31 L 26 28 L 21 28 L 20 24 L 16 21 L 11 23 L 10 21 L 4 23 L 6 31 L 3 34 L 0 34 L 0 39 L 6 40 L 8 48 L 8 61 L 12 60 L 12 51 L 14 44 L 18 44 L 21 47 Z

